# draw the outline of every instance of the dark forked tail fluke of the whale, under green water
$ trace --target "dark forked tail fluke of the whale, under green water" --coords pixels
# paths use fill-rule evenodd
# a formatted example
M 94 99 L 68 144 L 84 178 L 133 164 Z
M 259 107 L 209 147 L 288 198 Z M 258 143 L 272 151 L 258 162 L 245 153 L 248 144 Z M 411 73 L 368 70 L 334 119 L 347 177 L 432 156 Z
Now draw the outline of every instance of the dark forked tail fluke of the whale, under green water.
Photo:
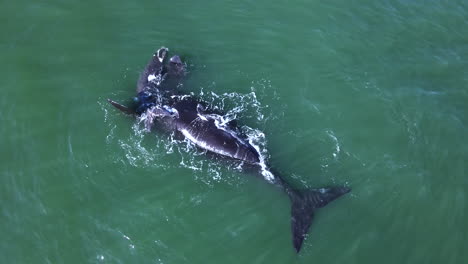
M 302 242 L 312 223 L 315 209 L 324 207 L 329 202 L 350 191 L 351 188 L 348 187 L 331 187 L 289 192 L 292 202 L 291 231 L 293 245 L 297 252 L 301 250 Z

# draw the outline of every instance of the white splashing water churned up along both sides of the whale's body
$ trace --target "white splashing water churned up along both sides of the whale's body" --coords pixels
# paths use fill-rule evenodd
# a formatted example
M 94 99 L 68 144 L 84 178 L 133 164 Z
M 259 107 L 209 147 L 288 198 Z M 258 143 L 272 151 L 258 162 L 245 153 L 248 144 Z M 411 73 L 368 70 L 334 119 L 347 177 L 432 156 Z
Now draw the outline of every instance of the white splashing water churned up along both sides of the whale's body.
M 207 108 L 218 111 L 223 114 L 213 115 L 216 124 L 219 127 L 226 127 L 234 120 L 251 121 L 256 126 L 262 125 L 266 119 L 272 118 L 271 115 L 263 113 L 268 106 L 263 106 L 259 100 L 265 96 L 265 89 L 271 90 L 271 84 L 265 80 L 252 82 L 251 91 L 248 93 L 221 93 L 205 92 L 203 88 L 198 94 L 191 93 L 184 96 L 193 96 L 200 98 L 200 101 L 206 103 Z M 184 97 L 182 96 L 182 97 Z M 180 97 L 180 96 L 179 96 Z M 149 133 L 148 120 L 151 119 L 149 114 L 142 116 L 131 127 L 132 133 L 122 138 L 116 137 L 120 134 L 119 128 L 115 123 L 119 117 L 108 113 L 108 106 L 101 104 L 101 108 L 105 113 L 104 122 L 108 126 L 108 135 L 106 143 L 108 145 L 117 145 L 123 152 L 123 155 L 117 153 L 114 155 L 115 162 L 123 162 L 134 167 L 151 167 L 171 169 L 174 167 L 182 167 L 191 170 L 192 175 L 207 185 L 213 185 L 217 182 L 228 182 L 230 184 L 239 184 L 239 176 L 233 174 L 232 171 L 241 171 L 243 167 L 242 161 L 224 160 L 223 165 L 220 165 L 217 158 L 207 159 L 206 150 L 198 148 L 189 139 L 178 139 L 175 134 L 161 135 L 157 133 Z M 274 117 L 273 117 L 274 118 Z M 259 123 L 260 122 L 260 123 Z M 268 154 L 266 151 L 265 134 L 249 126 L 241 126 L 239 130 L 246 135 L 248 142 L 260 154 L 261 172 L 265 179 L 272 181 L 274 176 L 267 168 Z M 125 135 L 125 134 L 124 134 Z M 148 144 L 150 141 L 151 144 Z M 178 163 L 168 162 L 167 160 L 178 159 Z

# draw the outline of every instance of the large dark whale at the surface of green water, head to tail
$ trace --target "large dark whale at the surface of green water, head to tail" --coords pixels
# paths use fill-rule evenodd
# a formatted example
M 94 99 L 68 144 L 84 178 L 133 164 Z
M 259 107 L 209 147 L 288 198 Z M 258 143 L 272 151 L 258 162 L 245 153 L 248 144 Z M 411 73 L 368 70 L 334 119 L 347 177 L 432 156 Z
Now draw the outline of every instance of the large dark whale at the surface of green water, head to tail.
M 235 124 L 224 122 L 220 113 L 211 111 L 197 98 L 177 91 L 185 74 L 185 65 L 177 55 L 165 64 L 167 52 L 168 49 L 162 47 L 147 64 L 138 79 L 138 94 L 131 106 L 108 101 L 122 112 L 144 119 L 147 129 L 176 133 L 201 149 L 256 167 L 269 183 L 280 187 L 291 200 L 292 240 L 299 252 L 316 209 L 351 189 L 297 189 L 278 173 L 273 173 L 261 159 L 257 148 L 239 132 Z

